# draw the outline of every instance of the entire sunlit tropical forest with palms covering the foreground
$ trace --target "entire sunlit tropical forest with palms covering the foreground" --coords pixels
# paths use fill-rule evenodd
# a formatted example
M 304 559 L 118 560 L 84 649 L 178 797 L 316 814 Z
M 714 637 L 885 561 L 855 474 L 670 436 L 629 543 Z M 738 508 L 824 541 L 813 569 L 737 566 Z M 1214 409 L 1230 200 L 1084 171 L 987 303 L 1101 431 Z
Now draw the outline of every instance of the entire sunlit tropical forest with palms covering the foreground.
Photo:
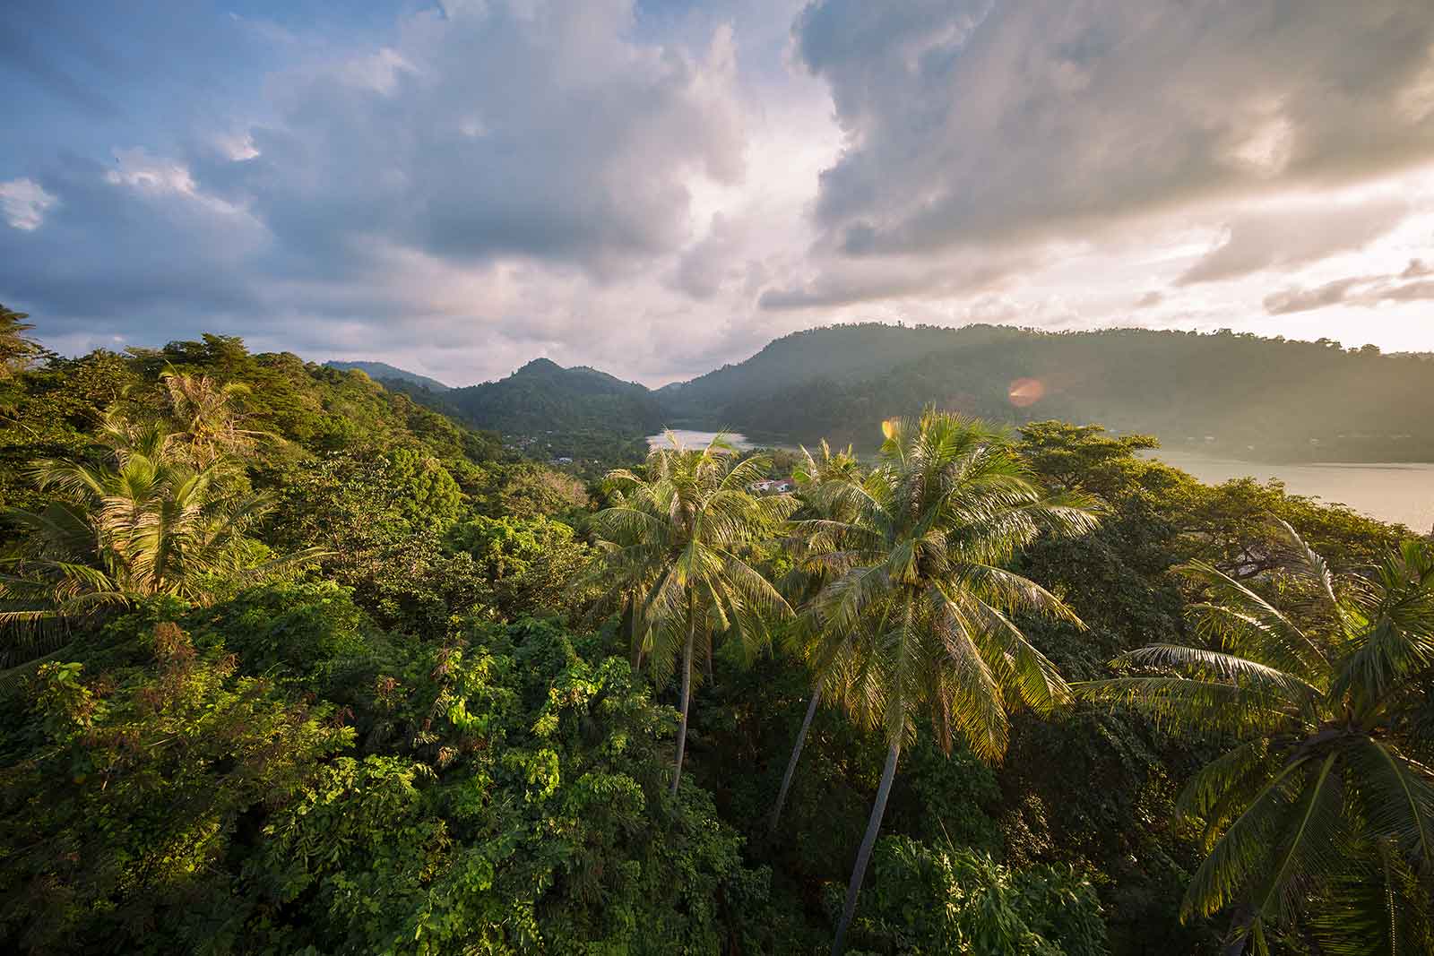
M 0 321 L 7 952 L 1434 952 L 1408 527 L 939 403 L 582 473 Z

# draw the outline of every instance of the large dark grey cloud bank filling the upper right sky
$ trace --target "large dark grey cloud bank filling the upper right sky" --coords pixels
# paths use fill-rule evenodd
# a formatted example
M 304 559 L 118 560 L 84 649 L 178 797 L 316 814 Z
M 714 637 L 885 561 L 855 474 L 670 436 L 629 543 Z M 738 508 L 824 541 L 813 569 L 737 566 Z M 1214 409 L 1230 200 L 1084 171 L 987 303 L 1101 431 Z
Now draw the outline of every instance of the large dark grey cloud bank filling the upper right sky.
M 1073 238 L 1197 199 L 1434 158 L 1425 0 L 816 0 L 796 53 L 847 136 L 847 257 Z

